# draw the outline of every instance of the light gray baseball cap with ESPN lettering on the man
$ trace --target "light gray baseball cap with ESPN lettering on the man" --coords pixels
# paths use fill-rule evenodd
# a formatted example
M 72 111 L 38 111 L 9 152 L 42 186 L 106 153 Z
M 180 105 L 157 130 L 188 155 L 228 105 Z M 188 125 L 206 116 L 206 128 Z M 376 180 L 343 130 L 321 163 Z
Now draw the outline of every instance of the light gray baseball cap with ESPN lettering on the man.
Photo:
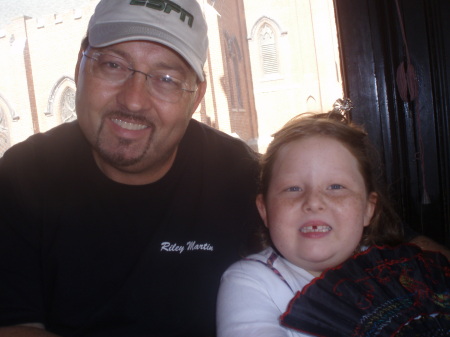
M 197 0 L 101 0 L 89 21 L 89 45 L 161 43 L 180 54 L 204 81 L 207 25 Z

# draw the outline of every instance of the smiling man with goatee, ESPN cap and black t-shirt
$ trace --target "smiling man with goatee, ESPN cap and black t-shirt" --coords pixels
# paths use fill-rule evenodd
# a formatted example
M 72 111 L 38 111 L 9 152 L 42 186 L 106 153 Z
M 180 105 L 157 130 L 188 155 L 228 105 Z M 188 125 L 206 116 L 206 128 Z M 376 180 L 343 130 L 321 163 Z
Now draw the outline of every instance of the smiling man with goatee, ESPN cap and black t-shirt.
M 255 154 L 191 119 L 206 29 L 195 0 L 99 3 L 78 121 L 0 160 L 0 336 L 214 335 L 259 217 Z

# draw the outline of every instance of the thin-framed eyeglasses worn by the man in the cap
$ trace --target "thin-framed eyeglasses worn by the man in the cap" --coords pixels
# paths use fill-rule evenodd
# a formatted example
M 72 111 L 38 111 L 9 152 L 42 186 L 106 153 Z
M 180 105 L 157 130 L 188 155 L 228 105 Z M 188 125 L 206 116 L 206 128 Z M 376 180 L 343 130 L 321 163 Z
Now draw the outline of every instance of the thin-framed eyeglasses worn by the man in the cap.
M 183 81 L 168 75 L 163 71 L 156 71 L 151 74 L 133 69 L 131 64 L 123 58 L 94 52 L 88 55 L 83 51 L 83 56 L 90 60 L 90 73 L 102 80 L 106 80 L 114 85 L 122 85 L 135 73 L 140 73 L 146 78 L 146 87 L 150 95 L 163 101 L 176 103 L 180 100 L 184 92 L 196 92 L 197 88 L 187 88 Z

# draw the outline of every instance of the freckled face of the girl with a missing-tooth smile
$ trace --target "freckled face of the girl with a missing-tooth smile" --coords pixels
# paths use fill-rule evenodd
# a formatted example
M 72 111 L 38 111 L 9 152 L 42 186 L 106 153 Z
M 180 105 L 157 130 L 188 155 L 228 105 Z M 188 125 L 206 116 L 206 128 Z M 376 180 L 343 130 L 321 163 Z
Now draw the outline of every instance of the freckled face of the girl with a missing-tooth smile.
M 311 136 L 279 150 L 267 195 L 256 204 L 279 252 L 318 276 L 354 253 L 376 199 L 342 143 Z

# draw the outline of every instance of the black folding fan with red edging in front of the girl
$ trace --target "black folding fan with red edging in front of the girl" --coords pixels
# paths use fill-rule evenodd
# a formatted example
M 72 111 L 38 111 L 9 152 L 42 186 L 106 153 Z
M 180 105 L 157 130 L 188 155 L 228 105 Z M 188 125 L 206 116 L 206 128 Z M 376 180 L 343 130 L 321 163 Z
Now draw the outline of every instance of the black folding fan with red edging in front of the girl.
M 372 247 L 298 292 L 282 324 L 316 336 L 450 336 L 450 264 L 410 244 Z

